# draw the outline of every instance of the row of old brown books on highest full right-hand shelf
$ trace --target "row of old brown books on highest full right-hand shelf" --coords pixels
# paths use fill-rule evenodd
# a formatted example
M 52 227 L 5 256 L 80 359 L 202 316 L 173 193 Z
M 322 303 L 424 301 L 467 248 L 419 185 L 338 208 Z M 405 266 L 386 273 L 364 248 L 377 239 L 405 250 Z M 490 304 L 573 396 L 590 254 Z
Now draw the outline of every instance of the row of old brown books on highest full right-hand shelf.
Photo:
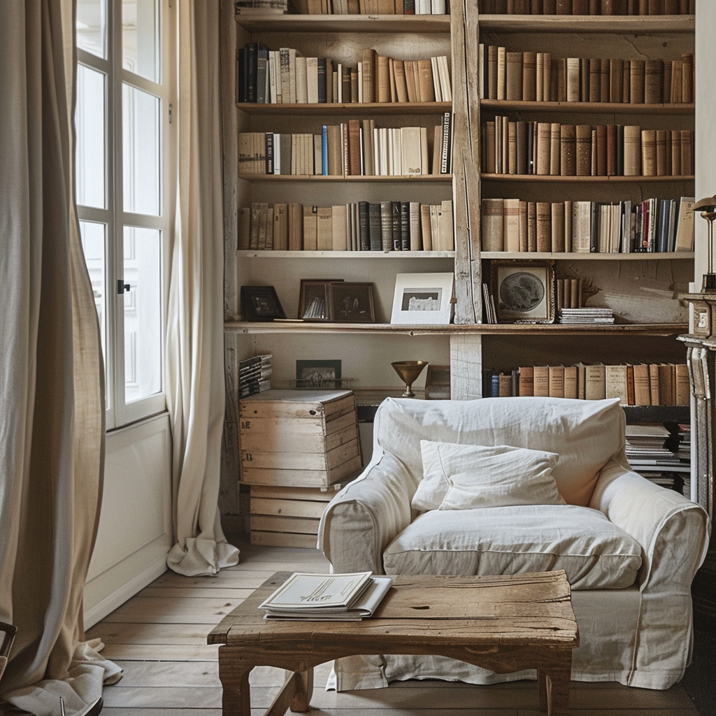
M 551 57 L 480 44 L 480 97 L 518 102 L 694 101 L 693 54 L 681 59 Z

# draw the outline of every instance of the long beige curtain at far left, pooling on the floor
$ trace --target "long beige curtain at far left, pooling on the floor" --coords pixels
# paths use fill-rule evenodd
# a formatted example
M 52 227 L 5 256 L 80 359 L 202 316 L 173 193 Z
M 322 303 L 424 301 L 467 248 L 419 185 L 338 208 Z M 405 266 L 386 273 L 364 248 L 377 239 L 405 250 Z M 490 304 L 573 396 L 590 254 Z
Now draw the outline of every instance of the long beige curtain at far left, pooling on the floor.
M 79 712 L 119 669 L 84 644 L 102 496 L 100 336 L 74 213 L 72 0 L 0 3 L 0 682 L 38 715 Z M 11 693 L 9 693 L 11 692 Z

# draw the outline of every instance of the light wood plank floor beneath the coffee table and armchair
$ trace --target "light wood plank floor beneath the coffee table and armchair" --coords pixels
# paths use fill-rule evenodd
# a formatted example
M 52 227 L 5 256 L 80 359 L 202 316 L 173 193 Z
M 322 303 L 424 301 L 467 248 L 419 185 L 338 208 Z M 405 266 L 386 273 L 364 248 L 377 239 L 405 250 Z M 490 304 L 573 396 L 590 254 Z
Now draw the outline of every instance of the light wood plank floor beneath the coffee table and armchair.
M 105 642 L 103 654 L 124 669 L 105 688 L 107 716 L 220 716 L 221 684 L 216 646 L 206 635 L 253 589 L 279 570 L 324 571 L 319 551 L 252 547 L 234 540 L 241 562 L 218 576 L 183 577 L 166 572 L 122 604 L 87 637 Z M 401 682 L 388 689 L 326 692 L 329 664 L 316 669 L 311 713 L 315 716 L 538 716 L 535 682 L 475 687 L 445 682 Z M 263 714 L 284 682 L 280 669 L 251 674 L 252 715 Z M 619 684 L 574 682 L 576 716 L 698 716 L 680 684 L 668 691 Z M 290 712 L 289 712 L 290 713 Z

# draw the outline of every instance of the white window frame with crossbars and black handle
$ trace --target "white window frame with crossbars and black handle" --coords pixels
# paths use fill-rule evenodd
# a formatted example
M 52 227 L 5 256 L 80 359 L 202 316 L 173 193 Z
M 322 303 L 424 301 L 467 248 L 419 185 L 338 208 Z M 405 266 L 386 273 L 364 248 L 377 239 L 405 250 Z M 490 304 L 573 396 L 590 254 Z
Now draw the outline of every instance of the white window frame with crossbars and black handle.
M 77 48 L 77 64 L 95 69 L 105 75 L 105 207 L 77 206 L 79 221 L 92 221 L 105 225 L 105 318 L 106 331 L 106 394 L 107 430 L 129 425 L 166 410 L 165 399 L 165 326 L 168 306 L 168 279 L 174 226 L 176 193 L 176 122 L 172 121 L 177 102 L 175 29 L 176 4 L 173 0 L 160 0 L 160 83 L 129 72 L 122 67 L 122 0 L 104 0 L 106 4 L 105 47 L 107 59 Z M 124 211 L 122 175 L 122 87 L 135 87 L 160 100 L 160 145 L 162 147 L 160 178 L 160 216 Z M 124 228 L 136 226 L 161 231 L 161 266 L 163 286 L 162 306 L 162 390 L 147 397 L 125 400 L 125 325 L 124 292 Z M 113 299 L 112 299 L 113 297 Z

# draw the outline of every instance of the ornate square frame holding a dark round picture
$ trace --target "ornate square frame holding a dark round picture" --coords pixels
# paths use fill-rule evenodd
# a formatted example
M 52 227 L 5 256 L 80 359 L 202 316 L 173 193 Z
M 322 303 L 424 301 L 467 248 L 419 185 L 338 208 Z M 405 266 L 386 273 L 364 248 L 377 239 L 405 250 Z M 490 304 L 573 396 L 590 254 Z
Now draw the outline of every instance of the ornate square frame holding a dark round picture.
M 490 261 L 498 323 L 553 323 L 552 261 Z

